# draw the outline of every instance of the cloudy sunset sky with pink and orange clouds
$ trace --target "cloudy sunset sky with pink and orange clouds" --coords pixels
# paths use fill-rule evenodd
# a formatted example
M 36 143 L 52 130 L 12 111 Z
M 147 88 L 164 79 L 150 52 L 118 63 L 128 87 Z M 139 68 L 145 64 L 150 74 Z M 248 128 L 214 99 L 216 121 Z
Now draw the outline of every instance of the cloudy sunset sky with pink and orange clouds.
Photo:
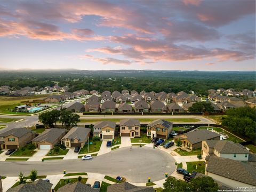
M 255 1 L 0 1 L 0 70 L 256 70 Z

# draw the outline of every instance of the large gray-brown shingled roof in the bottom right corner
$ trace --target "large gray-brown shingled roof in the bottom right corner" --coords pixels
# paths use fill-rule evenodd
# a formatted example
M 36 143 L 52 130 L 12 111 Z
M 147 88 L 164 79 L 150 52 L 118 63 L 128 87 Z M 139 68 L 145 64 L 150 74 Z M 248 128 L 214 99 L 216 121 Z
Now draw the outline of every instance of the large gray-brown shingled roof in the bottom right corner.
M 250 162 L 242 163 L 229 158 L 212 156 L 209 158 L 206 171 L 256 186 L 256 168 Z

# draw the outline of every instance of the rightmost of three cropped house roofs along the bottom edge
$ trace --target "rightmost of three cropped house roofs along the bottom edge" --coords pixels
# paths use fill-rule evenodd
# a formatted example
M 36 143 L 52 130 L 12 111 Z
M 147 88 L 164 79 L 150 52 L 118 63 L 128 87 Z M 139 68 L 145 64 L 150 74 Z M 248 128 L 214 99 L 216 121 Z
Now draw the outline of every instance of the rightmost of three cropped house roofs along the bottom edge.
M 129 182 L 121 182 L 121 183 L 116 183 L 114 185 L 110 185 L 107 188 L 107 192 L 125 192 L 125 191 L 130 191 L 130 192 L 154 192 L 153 187 L 137 187 L 132 185 Z

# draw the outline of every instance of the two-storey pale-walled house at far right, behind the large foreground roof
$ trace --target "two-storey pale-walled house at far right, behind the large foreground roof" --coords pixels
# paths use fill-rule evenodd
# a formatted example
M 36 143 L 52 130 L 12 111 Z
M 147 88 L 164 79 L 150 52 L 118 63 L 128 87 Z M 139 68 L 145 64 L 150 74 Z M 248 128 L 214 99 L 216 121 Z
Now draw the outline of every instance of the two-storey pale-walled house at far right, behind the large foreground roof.
M 233 159 L 246 163 L 250 152 L 239 143 L 228 140 L 207 140 L 202 141 L 202 156 L 217 156 Z

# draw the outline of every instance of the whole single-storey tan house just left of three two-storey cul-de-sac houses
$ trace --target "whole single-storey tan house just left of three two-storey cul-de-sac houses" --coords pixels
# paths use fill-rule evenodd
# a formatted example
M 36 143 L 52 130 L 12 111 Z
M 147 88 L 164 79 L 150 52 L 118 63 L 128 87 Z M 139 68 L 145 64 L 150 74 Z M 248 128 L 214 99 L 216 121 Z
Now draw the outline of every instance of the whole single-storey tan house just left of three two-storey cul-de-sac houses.
M 90 137 L 91 129 L 85 127 L 72 127 L 69 132 L 61 139 L 65 147 L 84 147 L 85 142 Z

